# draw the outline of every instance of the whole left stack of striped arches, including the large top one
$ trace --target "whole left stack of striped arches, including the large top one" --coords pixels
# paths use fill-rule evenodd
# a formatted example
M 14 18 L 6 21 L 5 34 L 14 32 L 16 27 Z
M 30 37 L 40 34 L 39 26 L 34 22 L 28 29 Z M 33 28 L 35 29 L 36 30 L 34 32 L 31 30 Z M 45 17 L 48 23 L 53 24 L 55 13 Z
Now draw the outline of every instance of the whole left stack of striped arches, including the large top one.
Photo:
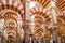
M 4 19 L 4 37 L 16 37 L 16 32 L 22 38 L 24 30 L 22 27 L 24 6 L 14 0 L 0 0 L 0 15 Z M 14 31 L 14 32 L 13 32 Z

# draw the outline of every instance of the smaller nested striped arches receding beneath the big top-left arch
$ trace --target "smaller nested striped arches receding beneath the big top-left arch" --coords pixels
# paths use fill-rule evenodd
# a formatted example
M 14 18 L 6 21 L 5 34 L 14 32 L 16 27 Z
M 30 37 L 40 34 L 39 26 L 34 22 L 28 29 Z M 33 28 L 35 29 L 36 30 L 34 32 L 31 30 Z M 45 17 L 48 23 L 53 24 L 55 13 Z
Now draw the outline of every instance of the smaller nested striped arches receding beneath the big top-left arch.
M 17 32 L 18 35 L 21 35 L 21 38 L 24 39 L 22 17 L 12 12 L 6 12 L 3 17 L 4 17 L 3 28 L 4 28 L 4 31 L 6 30 L 6 33 L 4 33 L 4 37 L 8 38 L 9 35 L 12 35 L 13 38 L 16 38 L 16 32 Z

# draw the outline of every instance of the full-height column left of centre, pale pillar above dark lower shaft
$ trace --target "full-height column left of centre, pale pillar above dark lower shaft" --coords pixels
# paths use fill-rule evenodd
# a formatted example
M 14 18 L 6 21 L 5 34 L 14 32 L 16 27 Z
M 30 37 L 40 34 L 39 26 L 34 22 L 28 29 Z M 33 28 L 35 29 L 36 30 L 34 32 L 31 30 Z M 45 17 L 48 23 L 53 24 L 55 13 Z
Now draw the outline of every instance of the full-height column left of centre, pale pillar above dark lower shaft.
M 25 19 L 28 22 L 29 18 L 30 18 L 30 0 L 25 0 Z M 28 25 L 28 26 L 26 26 Z M 29 24 L 28 23 L 25 23 L 25 43 L 29 43 L 28 42 L 28 28 L 29 28 Z

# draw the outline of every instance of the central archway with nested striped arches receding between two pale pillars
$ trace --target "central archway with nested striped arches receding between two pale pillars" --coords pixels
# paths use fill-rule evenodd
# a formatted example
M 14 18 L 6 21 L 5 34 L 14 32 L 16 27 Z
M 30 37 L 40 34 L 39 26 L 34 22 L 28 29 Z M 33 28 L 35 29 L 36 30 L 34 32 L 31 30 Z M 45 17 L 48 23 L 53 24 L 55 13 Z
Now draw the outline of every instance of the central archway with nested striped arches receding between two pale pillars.
M 47 9 L 42 8 L 42 5 L 38 5 L 38 4 L 34 4 L 34 5 L 35 6 L 32 6 L 30 9 L 29 31 L 30 31 L 31 35 L 34 34 L 34 38 L 37 37 L 36 39 L 40 40 L 40 39 L 42 39 L 43 33 L 46 31 L 44 25 L 47 25 L 49 22 L 51 22 L 52 16 Z M 46 37 L 49 39 L 50 38 L 49 35 L 50 35 L 50 32 L 48 31 Z

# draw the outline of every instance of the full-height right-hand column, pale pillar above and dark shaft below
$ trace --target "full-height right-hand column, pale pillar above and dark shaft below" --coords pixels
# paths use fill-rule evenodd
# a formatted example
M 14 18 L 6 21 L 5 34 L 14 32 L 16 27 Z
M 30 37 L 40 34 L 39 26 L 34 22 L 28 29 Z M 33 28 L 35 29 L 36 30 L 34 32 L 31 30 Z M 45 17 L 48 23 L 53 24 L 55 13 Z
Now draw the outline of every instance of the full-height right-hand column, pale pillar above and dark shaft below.
M 50 1 L 50 3 L 51 3 L 51 16 L 52 16 L 52 19 L 51 19 L 51 28 L 52 28 L 52 31 L 53 31 L 53 33 L 52 33 L 52 40 L 51 41 L 53 41 L 53 42 L 51 42 L 51 43 L 56 43 L 56 32 L 55 32 L 55 29 L 56 29 L 56 24 L 57 24 L 57 17 L 56 17 L 56 13 L 55 13 L 55 2 L 54 1 Z

